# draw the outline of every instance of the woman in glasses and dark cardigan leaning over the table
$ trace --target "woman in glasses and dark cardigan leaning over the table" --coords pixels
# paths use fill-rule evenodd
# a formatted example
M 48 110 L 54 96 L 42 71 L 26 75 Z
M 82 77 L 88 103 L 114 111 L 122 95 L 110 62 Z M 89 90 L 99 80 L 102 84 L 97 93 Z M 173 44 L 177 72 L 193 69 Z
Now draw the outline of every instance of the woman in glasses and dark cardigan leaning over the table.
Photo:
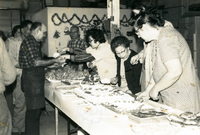
M 111 83 L 118 83 L 119 89 L 127 93 L 136 94 L 140 92 L 142 65 L 130 63 L 131 57 L 137 54 L 130 49 L 130 41 L 124 36 L 115 37 L 111 41 L 111 49 L 117 57 L 117 76 L 111 79 Z

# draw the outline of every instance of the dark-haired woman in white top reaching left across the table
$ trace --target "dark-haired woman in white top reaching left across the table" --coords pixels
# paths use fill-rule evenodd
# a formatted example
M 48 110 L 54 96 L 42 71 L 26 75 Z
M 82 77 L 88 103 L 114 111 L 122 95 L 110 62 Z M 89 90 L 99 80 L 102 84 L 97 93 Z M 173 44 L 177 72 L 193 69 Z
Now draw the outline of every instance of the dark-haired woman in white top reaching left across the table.
M 117 62 L 110 44 L 105 40 L 104 33 L 99 29 L 90 29 L 86 32 L 86 42 L 90 47 L 86 51 L 68 48 L 67 51 L 74 55 L 62 55 L 73 62 L 90 62 L 89 68 L 97 67 L 102 83 L 110 83 L 110 79 L 116 76 Z

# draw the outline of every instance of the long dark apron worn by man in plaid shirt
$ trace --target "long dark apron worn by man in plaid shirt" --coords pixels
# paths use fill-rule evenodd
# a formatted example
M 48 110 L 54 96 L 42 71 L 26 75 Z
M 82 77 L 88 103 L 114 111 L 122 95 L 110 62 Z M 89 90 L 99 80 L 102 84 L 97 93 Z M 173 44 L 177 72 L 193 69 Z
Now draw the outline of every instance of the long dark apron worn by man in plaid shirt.
M 28 110 L 45 107 L 44 82 L 44 67 L 23 69 L 21 88 L 25 93 L 26 107 Z

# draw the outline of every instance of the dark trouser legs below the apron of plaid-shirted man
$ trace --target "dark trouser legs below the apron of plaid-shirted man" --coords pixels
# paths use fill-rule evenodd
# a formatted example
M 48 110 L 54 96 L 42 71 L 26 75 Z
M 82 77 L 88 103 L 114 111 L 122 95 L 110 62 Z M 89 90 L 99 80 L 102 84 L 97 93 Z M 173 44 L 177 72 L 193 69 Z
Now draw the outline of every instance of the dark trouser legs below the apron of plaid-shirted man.
M 26 135 L 39 135 L 40 134 L 40 115 L 42 109 L 32 109 L 26 111 Z

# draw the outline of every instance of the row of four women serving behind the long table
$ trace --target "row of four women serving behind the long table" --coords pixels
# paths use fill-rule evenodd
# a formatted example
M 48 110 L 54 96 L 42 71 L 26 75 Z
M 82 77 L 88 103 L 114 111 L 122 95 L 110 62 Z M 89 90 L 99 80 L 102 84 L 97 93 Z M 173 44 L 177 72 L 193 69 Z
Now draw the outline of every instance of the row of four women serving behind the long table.
M 106 83 L 118 84 L 120 90 L 135 94 L 141 102 L 151 99 L 199 113 L 199 78 L 186 40 L 156 7 L 137 2 L 132 4 L 132 12 L 134 32 L 144 45 L 138 54 L 130 50 L 125 36 L 117 36 L 109 44 L 97 29 L 86 32 L 90 46 L 86 50 L 67 47 L 58 52 L 73 52 L 61 57 L 96 66 L 101 82 L 107 78 Z

